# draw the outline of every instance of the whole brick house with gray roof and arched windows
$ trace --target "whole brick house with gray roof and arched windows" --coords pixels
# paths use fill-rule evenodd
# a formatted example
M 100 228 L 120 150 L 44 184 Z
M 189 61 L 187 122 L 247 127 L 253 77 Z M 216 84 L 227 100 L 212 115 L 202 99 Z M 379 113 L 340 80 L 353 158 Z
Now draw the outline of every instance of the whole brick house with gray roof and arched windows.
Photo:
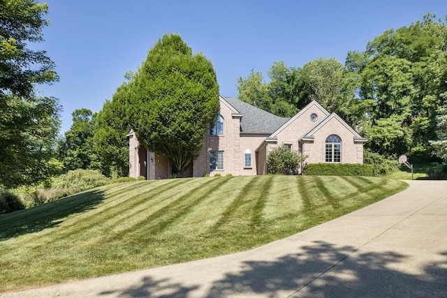
M 316 101 L 292 118 L 277 117 L 237 98 L 219 97 L 219 102 L 216 123 L 203 136 L 205 146 L 182 177 L 267 174 L 266 158 L 277 146 L 307 156 L 302 167 L 307 163 L 363 163 L 366 139 Z M 131 177 L 170 176 L 167 158 L 147 151 L 133 131 L 128 137 Z

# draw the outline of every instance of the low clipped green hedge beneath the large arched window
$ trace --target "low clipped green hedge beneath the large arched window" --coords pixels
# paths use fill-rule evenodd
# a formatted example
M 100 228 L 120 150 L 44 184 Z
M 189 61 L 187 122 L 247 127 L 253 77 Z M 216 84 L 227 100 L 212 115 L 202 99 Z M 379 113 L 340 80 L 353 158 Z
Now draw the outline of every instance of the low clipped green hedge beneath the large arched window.
M 305 175 L 315 176 L 372 176 L 372 165 L 362 163 L 309 163 Z

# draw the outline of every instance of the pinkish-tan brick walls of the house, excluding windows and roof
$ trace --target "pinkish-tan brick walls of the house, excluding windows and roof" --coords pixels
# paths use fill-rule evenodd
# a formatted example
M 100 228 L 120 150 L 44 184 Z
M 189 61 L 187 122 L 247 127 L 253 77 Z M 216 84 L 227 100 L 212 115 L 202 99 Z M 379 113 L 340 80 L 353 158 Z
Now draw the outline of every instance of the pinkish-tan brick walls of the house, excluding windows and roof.
M 363 144 L 366 140 L 336 114 L 330 114 L 315 101 L 303 108 L 295 117 L 285 119 L 284 124 L 275 128 L 276 131 L 244 132 L 241 126 L 245 120 L 244 114 L 230 105 L 228 99 L 221 97 L 219 100 L 221 103 L 219 114 L 223 117 L 223 135 L 210 135 L 210 131 L 205 132 L 203 136 L 205 146 L 200 150 L 198 158 L 193 161 L 187 176 L 266 174 L 268 168 L 265 165 L 265 158 L 268 152 L 284 144 L 291 145 L 292 150 L 299 150 L 307 156 L 305 163 L 324 163 L 325 140 L 329 135 L 337 135 L 342 140 L 341 163 L 363 163 Z M 235 98 L 231 100 L 233 103 L 240 103 L 235 102 Z M 242 104 L 240 106 L 244 107 Z M 253 110 L 254 107 L 250 109 Z M 147 153 L 136 140 L 133 131 L 128 137 L 130 176 L 144 176 L 147 179 L 168 178 L 170 174 L 168 160 L 154 153 Z M 223 169 L 210 170 L 211 151 L 223 152 Z M 247 167 L 245 154 L 249 153 L 251 153 L 251 166 Z

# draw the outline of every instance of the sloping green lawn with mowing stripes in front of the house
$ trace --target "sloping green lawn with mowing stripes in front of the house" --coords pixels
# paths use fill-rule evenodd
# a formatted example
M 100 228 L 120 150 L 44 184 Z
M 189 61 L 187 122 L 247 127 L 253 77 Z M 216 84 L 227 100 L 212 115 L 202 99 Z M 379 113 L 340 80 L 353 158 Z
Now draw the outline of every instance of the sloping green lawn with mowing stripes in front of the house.
M 244 251 L 402 191 L 372 177 L 112 184 L 0 216 L 0 292 Z

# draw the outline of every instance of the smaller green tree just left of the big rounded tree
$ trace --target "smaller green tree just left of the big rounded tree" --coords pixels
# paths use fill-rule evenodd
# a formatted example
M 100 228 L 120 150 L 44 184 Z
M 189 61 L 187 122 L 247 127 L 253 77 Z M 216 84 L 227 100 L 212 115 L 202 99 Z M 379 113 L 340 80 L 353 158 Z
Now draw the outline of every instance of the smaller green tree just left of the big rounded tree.
M 94 126 L 93 146 L 101 162 L 101 172 L 112 178 L 129 174 L 129 140 L 126 134 L 130 128 L 123 110 L 117 100 L 106 100 Z

